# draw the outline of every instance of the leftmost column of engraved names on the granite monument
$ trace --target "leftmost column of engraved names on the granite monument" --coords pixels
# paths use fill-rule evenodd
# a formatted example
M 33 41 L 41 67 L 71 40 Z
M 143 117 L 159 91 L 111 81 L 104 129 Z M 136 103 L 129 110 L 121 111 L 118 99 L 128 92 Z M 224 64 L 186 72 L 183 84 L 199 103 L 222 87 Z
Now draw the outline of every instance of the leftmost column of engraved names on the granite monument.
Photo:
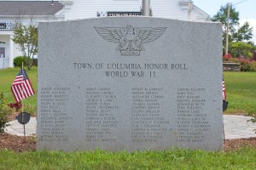
M 41 141 L 67 141 L 67 124 L 72 117 L 67 113 L 70 88 L 41 88 Z

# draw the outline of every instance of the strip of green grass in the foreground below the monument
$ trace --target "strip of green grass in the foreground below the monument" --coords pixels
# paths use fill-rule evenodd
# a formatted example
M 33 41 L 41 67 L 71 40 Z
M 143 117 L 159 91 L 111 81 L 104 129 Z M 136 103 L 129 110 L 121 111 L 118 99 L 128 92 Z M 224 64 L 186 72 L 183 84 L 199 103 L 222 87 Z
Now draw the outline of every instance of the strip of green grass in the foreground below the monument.
M 35 151 L 0 150 L 0 169 L 256 169 L 256 149 L 234 152 L 203 150 L 159 151 Z

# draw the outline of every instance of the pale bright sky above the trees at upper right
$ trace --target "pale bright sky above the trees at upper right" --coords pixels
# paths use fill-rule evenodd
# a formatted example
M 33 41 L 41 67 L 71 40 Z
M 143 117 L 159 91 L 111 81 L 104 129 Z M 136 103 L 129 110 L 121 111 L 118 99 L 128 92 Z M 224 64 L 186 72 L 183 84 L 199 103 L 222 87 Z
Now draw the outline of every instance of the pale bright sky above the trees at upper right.
M 256 42 L 256 0 L 193 0 L 193 2 L 195 6 L 201 8 L 211 17 L 217 14 L 220 6 L 224 6 L 226 3 L 235 4 L 234 8 L 239 12 L 240 24 L 248 21 L 250 26 L 253 26 L 252 40 Z

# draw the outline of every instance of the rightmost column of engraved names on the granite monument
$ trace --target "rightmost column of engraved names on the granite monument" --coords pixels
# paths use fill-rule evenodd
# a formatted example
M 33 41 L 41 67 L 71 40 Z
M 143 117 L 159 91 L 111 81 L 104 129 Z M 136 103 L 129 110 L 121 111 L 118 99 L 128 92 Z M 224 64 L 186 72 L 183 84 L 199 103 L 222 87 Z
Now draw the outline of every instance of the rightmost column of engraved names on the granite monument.
M 202 142 L 211 125 L 204 113 L 206 88 L 177 89 L 177 133 L 179 142 Z

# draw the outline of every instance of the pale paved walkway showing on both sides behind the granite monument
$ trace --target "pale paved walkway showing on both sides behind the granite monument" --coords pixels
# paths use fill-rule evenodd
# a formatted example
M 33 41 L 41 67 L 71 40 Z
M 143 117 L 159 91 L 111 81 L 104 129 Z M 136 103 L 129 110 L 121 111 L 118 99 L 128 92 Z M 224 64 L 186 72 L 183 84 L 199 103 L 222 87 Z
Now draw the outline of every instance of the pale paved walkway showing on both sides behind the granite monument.
M 224 134 L 225 139 L 247 139 L 256 137 L 254 129 L 256 129 L 256 123 L 247 122 L 251 119 L 249 116 L 236 116 L 236 115 L 224 115 Z M 23 136 L 23 125 L 19 122 L 9 122 L 10 126 L 6 128 L 6 133 L 15 134 L 17 136 Z M 30 122 L 26 125 L 26 135 L 32 135 L 36 133 L 37 120 L 36 117 L 32 117 Z

